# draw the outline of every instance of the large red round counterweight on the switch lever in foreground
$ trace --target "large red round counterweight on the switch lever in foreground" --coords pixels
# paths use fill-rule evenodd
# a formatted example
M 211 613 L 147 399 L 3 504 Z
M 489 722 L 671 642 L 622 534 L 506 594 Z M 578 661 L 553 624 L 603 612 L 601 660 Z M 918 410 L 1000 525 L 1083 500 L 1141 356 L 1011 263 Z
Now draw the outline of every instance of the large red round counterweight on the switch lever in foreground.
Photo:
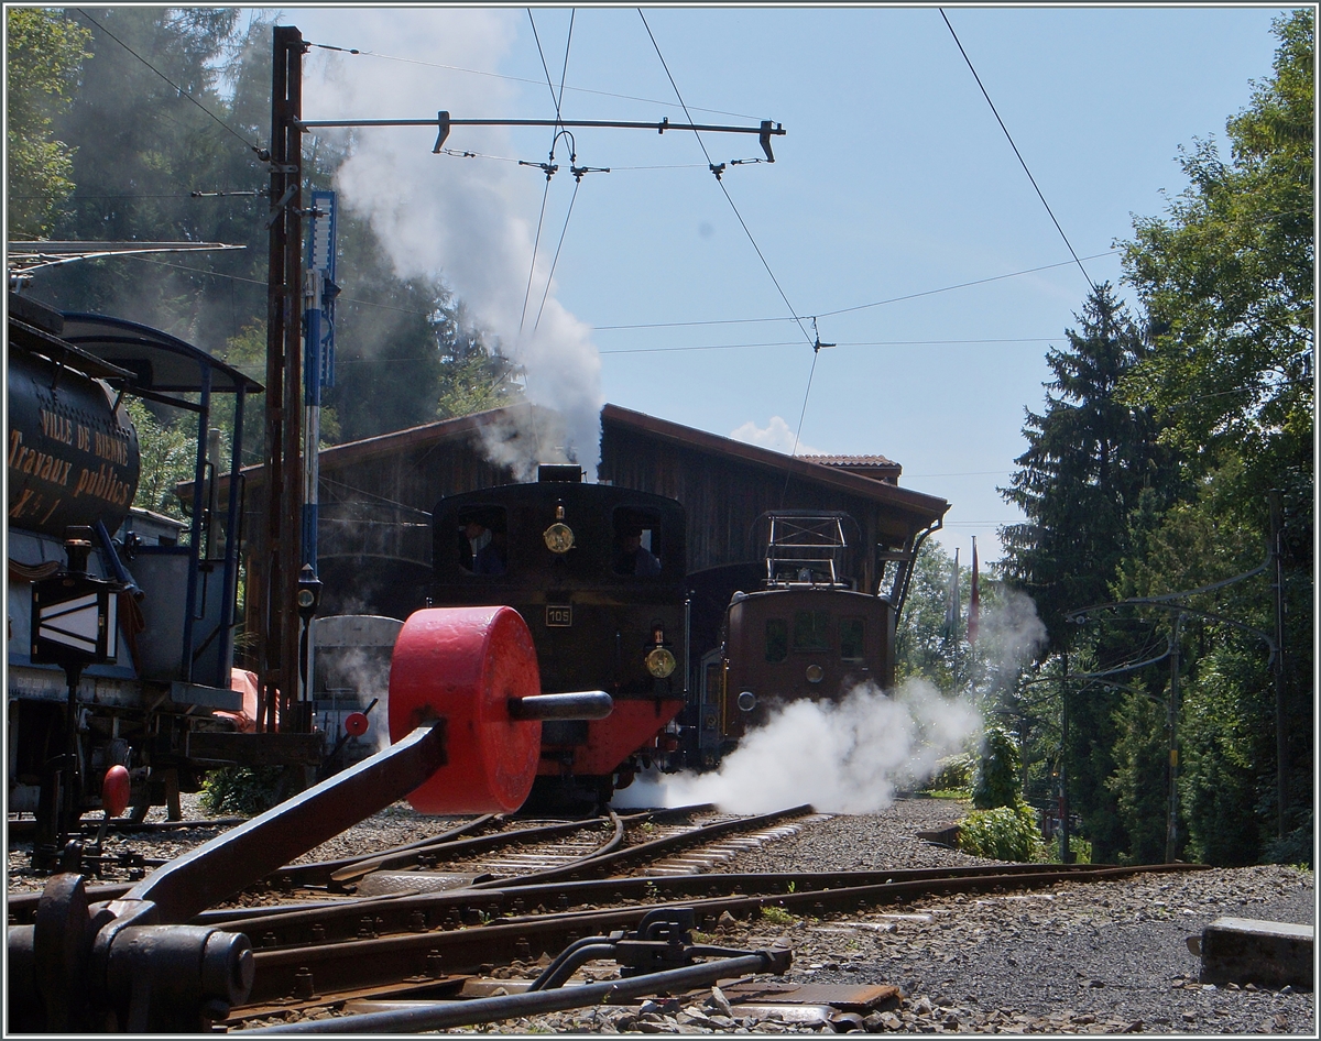
M 448 762 L 408 801 L 424 814 L 511 812 L 536 777 L 538 720 L 509 699 L 542 692 L 536 649 L 513 608 L 428 608 L 399 630 L 390 663 L 390 740 L 448 723 Z

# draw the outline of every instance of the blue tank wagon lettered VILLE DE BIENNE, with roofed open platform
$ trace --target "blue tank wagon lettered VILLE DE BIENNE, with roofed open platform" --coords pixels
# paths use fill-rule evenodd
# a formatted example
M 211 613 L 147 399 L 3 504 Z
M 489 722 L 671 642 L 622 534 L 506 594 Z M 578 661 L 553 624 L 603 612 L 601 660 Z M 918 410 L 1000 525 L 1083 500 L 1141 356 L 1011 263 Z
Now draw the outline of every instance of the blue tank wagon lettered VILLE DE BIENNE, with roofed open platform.
M 37 814 L 34 861 L 52 867 L 107 777 L 135 815 L 177 815 L 207 769 L 268 753 L 238 740 L 251 737 L 232 690 L 242 482 L 223 502 L 217 482 L 238 472 L 262 387 L 160 330 L 16 293 L 8 337 L 8 807 Z M 234 399 L 227 460 L 217 395 Z M 131 505 L 129 396 L 194 420 L 186 522 Z M 318 736 L 279 737 L 283 762 L 318 762 Z

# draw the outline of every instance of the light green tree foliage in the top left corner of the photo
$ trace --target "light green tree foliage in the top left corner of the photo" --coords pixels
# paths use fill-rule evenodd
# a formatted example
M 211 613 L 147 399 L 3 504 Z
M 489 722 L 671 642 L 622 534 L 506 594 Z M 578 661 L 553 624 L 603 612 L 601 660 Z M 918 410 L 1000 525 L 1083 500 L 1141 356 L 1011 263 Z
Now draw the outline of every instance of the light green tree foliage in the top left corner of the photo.
M 52 136 L 67 110 L 91 33 L 52 8 L 7 8 L 8 236 L 40 239 L 74 190 L 74 149 Z

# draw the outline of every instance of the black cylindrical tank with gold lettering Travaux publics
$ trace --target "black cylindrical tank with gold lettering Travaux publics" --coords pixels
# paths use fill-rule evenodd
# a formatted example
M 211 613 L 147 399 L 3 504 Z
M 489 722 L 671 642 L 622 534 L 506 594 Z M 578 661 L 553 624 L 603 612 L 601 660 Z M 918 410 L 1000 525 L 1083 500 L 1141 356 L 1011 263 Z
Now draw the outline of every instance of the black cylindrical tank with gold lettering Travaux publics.
M 41 354 L 9 355 L 9 523 L 61 536 L 115 531 L 137 491 L 137 433 L 104 383 Z

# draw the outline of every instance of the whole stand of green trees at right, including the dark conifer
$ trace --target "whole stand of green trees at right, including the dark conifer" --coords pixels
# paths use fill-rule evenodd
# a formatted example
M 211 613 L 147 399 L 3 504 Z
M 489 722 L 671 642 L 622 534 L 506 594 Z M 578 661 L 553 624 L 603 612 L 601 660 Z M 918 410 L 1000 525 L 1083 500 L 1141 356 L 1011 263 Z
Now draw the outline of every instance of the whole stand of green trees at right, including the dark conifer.
M 1133 605 L 1083 628 L 1062 621 L 1071 608 L 1131 597 L 1174 596 L 1234 624 L 1188 614 L 1180 626 L 1178 855 L 1231 865 L 1310 849 L 1313 11 L 1287 12 L 1275 33 L 1273 74 L 1227 123 L 1229 159 L 1196 141 L 1182 153 L 1186 190 L 1161 217 L 1136 218 L 1123 243 L 1141 318 L 1098 287 L 1069 350 L 1048 358 L 1055 394 L 1029 413 L 1029 452 L 1003 490 L 1028 515 L 1004 531 L 1005 573 L 1048 624 L 1048 668 L 1067 654 L 1071 675 L 1107 672 L 1147 692 L 1070 688 L 1069 798 L 1102 861 L 1164 857 L 1169 664 L 1129 664 L 1159 658 L 1174 620 Z M 1226 584 L 1267 556 L 1271 490 L 1283 506 L 1276 658 L 1273 561 Z

